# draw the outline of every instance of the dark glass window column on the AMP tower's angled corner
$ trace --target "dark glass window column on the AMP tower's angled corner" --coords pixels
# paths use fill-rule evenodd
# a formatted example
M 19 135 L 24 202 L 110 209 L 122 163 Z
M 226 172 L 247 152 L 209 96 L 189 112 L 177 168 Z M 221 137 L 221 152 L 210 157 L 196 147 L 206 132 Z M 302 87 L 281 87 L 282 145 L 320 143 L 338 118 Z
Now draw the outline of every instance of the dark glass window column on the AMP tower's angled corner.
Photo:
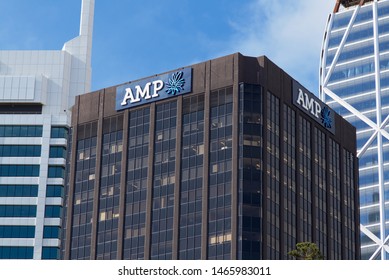
M 263 256 L 263 109 L 262 87 L 239 88 L 239 259 Z

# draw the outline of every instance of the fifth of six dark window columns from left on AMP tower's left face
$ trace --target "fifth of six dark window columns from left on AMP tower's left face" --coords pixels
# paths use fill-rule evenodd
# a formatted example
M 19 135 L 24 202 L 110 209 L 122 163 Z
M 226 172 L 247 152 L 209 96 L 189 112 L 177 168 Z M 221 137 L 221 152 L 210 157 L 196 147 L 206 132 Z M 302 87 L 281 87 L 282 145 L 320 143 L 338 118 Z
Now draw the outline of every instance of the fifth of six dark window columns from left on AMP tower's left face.
M 204 94 L 182 100 L 178 259 L 201 259 Z

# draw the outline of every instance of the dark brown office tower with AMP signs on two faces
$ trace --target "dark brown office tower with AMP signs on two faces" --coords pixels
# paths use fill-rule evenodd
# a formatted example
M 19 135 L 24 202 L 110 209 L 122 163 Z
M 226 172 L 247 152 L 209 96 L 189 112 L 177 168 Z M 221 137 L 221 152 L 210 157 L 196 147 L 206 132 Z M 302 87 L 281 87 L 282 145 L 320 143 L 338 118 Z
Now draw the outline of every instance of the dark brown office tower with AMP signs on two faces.
M 355 128 L 239 53 L 78 96 L 64 259 L 359 259 Z

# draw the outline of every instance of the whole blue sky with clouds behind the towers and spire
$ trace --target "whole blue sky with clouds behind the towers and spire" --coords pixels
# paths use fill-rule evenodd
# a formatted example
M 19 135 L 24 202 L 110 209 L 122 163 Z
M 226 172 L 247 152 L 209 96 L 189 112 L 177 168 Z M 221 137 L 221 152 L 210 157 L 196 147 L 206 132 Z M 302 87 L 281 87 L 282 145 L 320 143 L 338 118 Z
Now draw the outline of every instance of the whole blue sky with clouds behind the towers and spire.
M 266 55 L 318 94 L 335 0 L 96 0 L 92 90 L 240 52 Z M 0 50 L 59 50 L 81 0 L 0 0 Z

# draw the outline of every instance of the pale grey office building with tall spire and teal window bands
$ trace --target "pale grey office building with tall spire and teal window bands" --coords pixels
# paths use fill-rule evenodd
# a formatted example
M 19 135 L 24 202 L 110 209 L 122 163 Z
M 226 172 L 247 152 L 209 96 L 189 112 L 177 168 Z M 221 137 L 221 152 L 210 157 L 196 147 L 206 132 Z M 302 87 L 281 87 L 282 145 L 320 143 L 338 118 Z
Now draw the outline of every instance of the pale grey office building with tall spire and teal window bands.
M 0 259 L 58 259 L 70 108 L 90 91 L 94 0 L 57 51 L 0 50 Z

